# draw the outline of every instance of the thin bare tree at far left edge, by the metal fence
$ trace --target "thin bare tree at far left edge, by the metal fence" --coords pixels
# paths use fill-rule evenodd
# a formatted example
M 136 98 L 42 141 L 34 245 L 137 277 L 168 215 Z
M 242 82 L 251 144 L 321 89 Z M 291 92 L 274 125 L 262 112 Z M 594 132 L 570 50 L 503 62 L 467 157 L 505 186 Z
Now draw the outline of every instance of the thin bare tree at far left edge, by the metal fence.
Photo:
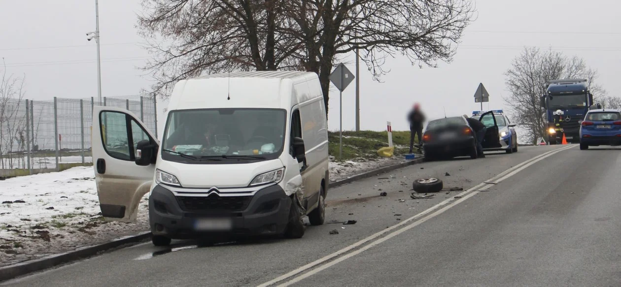
M 13 167 L 12 152 L 16 141 L 19 142 L 19 133 L 25 130 L 24 117 L 20 117 L 21 103 L 24 99 L 24 79 L 25 77 L 7 74 L 4 64 L 0 79 L 0 166 L 3 169 Z M 4 160 L 4 156 L 7 156 L 7 161 Z

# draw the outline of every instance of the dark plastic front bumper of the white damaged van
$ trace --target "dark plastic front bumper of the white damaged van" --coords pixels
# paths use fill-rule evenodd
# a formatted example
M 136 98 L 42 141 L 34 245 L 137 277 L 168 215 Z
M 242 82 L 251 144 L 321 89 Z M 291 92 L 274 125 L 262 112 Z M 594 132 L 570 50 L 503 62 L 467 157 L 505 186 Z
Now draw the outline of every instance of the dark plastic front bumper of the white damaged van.
M 171 239 L 275 235 L 284 232 L 290 207 L 291 198 L 279 185 L 253 196 L 175 196 L 156 185 L 149 196 L 149 223 L 153 235 Z M 227 222 L 227 227 L 210 229 L 201 222 Z

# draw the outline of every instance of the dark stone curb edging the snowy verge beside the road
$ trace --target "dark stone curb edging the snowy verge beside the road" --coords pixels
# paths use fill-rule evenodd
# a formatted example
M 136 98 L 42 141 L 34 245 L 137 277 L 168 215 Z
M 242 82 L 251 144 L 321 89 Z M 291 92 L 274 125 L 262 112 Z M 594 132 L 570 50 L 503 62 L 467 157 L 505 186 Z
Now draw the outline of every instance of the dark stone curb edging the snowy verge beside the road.
M 368 177 L 373 177 L 378 174 L 383 174 L 391 170 L 401 169 L 407 166 L 412 166 L 413 164 L 418 164 L 420 162 L 423 162 L 423 160 L 424 158 L 420 157 L 418 159 L 412 159 L 410 161 L 401 162 L 399 164 L 392 164 L 390 166 L 380 167 L 379 169 L 370 170 L 368 172 L 363 172 L 362 174 L 357 174 L 352 177 L 348 177 L 347 179 L 338 180 L 337 182 L 332 182 L 328 185 L 328 187 L 329 188 L 340 187 L 342 185 L 346 185 L 347 183 L 355 182 L 356 180 L 366 179 Z M 78 260 L 82 260 L 84 258 L 93 257 L 101 252 L 107 252 L 113 249 L 118 249 L 119 247 L 122 247 L 123 245 L 137 244 L 137 243 L 146 241 L 147 239 L 150 239 L 150 237 L 151 237 L 151 232 L 146 232 L 138 236 L 125 237 L 122 239 L 118 239 L 116 241 L 110 241 L 104 244 L 93 245 L 93 246 L 86 247 L 84 249 L 79 249 L 79 250 L 67 252 L 67 253 L 60 254 L 60 255 L 52 255 L 50 257 L 17 263 L 17 264 L 9 265 L 6 267 L 0 267 L 0 282 L 11 280 L 19 276 L 24 276 L 29 273 L 39 272 L 42 270 L 57 267 L 58 265 L 75 262 Z

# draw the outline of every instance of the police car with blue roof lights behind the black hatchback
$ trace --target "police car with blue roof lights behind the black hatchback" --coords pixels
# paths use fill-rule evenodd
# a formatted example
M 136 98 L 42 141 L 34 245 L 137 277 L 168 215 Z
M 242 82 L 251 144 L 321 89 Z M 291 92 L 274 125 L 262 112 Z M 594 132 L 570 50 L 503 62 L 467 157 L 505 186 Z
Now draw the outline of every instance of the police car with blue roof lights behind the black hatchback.
M 472 118 L 476 118 L 487 127 L 485 138 L 481 143 L 483 151 L 505 151 L 507 154 L 517 152 L 515 125 L 502 110 L 474 111 Z

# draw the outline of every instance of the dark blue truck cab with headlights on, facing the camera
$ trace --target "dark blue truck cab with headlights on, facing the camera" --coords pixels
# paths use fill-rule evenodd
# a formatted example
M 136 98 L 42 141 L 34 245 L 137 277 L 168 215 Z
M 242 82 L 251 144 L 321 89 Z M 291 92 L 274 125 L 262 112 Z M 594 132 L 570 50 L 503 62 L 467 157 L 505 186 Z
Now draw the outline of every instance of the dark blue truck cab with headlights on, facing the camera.
M 580 121 L 591 110 L 593 95 L 586 79 L 560 79 L 548 82 L 546 92 L 540 98 L 545 108 L 549 144 L 560 143 L 565 136 L 568 143 L 580 142 Z

